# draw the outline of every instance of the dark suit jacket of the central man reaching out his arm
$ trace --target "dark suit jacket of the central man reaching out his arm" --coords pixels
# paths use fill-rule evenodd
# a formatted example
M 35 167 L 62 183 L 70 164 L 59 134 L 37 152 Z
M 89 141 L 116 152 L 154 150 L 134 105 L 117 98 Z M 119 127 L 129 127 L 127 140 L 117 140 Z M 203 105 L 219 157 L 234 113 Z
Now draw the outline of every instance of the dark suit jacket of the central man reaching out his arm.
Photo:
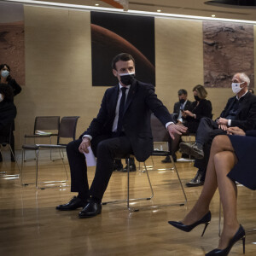
M 113 119 L 119 95 L 119 84 L 106 90 L 97 117 L 92 120 L 87 131 L 80 136 L 90 135 L 92 142 L 95 137 L 112 134 Z M 167 108 L 154 93 L 154 86 L 134 80 L 131 84 L 123 117 L 125 136 L 131 142 L 136 159 L 146 160 L 153 150 L 153 138 L 150 126 L 151 111 L 163 125 L 173 121 Z

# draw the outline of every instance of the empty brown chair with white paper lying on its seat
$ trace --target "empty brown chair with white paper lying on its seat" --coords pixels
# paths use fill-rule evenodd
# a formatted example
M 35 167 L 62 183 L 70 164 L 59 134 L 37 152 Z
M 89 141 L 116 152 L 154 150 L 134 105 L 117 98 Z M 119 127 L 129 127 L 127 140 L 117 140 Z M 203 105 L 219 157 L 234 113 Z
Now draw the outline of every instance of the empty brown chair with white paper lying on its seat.
M 33 138 L 36 144 L 37 138 L 49 138 L 51 144 L 52 137 L 57 137 L 60 129 L 60 116 L 37 116 L 34 123 L 33 134 L 24 135 L 24 144 L 27 138 Z M 50 160 L 52 160 L 51 149 L 49 150 Z

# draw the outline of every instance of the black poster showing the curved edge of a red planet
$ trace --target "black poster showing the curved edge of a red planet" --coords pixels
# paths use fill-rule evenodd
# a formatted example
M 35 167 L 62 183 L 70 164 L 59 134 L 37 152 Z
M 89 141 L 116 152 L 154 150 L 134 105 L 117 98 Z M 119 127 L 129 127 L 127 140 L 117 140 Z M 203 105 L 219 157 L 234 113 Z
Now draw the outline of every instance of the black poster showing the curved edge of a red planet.
M 90 13 L 93 86 L 113 86 L 111 61 L 126 52 L 136 62 L 136 78 L 155 84 L 154 17 Z

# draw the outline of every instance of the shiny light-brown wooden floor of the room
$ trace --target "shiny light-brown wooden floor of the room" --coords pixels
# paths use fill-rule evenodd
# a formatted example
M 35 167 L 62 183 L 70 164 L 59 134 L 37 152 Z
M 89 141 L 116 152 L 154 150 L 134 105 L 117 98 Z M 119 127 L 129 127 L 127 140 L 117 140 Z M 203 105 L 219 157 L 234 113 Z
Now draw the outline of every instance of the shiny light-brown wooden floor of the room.
M 15 174 L 15 163 L 9 162 L 4 152 L 4 163 L 0 172 Z M 30 156 L 33 156 L 32 154 Z M 56 157 L 57 155 L 55 155 Z M 20 163 L 20 154 L 18 154 Z M 172 167 L 161 164 L 160 157 L 154 157 L 154 167 Z M 67 163 L 67 159 L 65 160 Z M 151 166 L 151 160 L 147 161 Z M 138 164 L 137 164 L 138 166 Z M 24 167 L 24 182 L 35 181 L 35 161 L 28 161 Z M 195 176 L 193 163 L 177 162 L 177 169 L 183 184 Z M 69 172 L 68 166 L 67 170 Z M 90 182 L 94 168 L 89 168 Z M 113 172 L 103 201 L 124 199 L 126 194 L 126 173 Z M 154 186 L 154 198 L 140 201 L 133 207 L 148 207 L 159 204 L 183 203 L 182 190 L 173 171 L 150 171 Z M 39 180 L 64 178 L 61 160 L 49 160 L 44 152 L 40 160 Z M 201 188 L 185 188 L 188 197 L 186 206 L 161 207 L 159 209 L 129 212 L 125 203 L 108 204 L 102 207 L 102 214 L 95 218 L 79 219 L 79 209 L 59 212 L 55 206 L 66 203 L 73 196 L 70 187 L 35 189 L 35 185 L 20 186 L 20 178 L 0 177 L 0 255 L 205 255 L 218 245 L 218 193 L 211 205 L 212 222 L 205 236 L 201 237 L 203 226 L 190 233 L 175 230 L 168 220 L 179 220 L 194 205 Z M 256 228 L 256 192 L 238 187 L 238 214 L 246 230 Z M 145 172 L 131 173 L 131 195 L 150 195 Z M 237 242 L 230 255 L 242 255 L 241 242 Z M 246 254 L 256 255 L 256 232 L 247 232 Z

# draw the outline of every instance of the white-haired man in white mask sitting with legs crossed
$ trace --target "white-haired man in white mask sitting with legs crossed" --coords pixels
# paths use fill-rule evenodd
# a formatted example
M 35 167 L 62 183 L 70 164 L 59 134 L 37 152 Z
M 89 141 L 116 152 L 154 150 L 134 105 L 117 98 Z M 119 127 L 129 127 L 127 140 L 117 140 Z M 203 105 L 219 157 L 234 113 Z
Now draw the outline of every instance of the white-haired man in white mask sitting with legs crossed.
M 236 94 L 229 99 L 220 117 L 213 121 L 201 119 L 196 132 L 195 144 L 180 143 L 183 153 L 195 156 L 195 167 L 199 170 L 195 177 L 186 183 L 188 187 L 201 186 L 204 183 L 212 139 L 227 133 L 228 127 L 237 126 L 244 131 L 256 127 L 256 96 L 248 92 L 250 79 L 245 73 L 236 73 L 232 79 L 232 90 Z

